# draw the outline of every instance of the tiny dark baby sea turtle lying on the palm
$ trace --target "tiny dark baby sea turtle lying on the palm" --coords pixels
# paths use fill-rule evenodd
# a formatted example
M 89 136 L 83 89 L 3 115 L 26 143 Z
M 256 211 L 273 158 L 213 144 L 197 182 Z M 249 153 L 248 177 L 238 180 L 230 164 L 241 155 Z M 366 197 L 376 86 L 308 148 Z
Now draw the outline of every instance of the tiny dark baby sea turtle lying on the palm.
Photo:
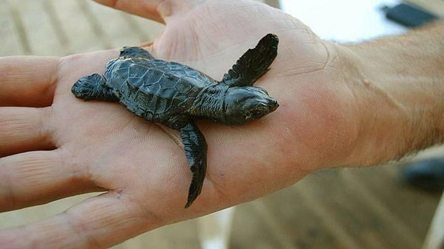
M 143 119 L 180 131 L 193 174 L 187 208 L 201 193 L 206 174 L 207 144 L 194 121 L 241 124 L 276 110 L 276 100 L 252 84 L 277 56 L 278 42 L 278 36 L 266 35 L 221 81 L 180 63 L 155 59 L 140 47 L 124 47 L 106 64 L 103 77 L 83 77 L 71 91 L 83 100 L 118 101 Z

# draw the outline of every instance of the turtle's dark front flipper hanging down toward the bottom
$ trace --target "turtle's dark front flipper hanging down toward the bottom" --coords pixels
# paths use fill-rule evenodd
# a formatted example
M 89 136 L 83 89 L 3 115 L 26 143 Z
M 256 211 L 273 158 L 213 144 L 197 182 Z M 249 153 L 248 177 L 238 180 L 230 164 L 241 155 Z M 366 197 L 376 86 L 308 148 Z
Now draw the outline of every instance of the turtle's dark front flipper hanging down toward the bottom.
M 202 190 L 203 179 L 205 179 L 206 174 L 207 146 L 205 137 L 194 123 L 187 123 L 187 125 L 180 128 L 180 137 L 182 137 L 182 143 L 185 145 L 185 156 L 187 156 L 189 167 L 193 173 L 188 200 L 185 205 L 185 209 L 187 209 Z

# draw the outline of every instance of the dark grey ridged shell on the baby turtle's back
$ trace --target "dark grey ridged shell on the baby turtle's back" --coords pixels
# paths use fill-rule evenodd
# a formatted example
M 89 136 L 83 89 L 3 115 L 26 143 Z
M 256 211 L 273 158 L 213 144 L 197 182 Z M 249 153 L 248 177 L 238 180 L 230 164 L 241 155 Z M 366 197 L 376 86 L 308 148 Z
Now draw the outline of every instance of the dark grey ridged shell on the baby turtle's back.
M 217 84 L 208 75 L 180 63 L 141 56 L 110 61 L 104 77 L 120 103 L 137 116 L 159 123 L 187 114 L 202 89 Z

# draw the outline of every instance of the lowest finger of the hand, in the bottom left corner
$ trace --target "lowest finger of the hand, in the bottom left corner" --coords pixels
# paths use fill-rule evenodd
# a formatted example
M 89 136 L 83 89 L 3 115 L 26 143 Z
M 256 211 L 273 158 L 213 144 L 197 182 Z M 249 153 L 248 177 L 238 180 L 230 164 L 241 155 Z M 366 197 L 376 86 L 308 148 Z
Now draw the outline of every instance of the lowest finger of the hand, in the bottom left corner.
M 0 230 L 0 248 L 107 248 L 160 225 L 124 195 L 106 193 L 41 222 Z

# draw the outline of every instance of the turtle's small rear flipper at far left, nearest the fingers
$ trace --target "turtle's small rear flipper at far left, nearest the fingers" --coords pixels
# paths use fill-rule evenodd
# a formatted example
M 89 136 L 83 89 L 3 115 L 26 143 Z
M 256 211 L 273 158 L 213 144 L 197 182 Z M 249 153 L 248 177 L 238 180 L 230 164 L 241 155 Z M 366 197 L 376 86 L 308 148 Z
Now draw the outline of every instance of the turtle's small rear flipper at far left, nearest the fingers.
M 105 85 L 103 77 L 96 73 L 80 78 L 71 91 L 77 98 L 83 100 L 118 101 L 113 91 Z

